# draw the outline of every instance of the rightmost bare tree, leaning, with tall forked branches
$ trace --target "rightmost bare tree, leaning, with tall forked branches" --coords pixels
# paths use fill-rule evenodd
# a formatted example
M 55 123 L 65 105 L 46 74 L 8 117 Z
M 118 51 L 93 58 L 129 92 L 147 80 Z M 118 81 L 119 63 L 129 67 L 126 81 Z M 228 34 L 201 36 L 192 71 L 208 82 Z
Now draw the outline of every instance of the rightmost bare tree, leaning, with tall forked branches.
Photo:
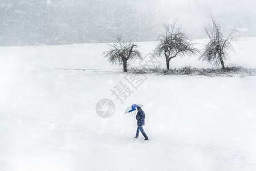
M 222 35 L 221 27 L 212 17 L 212 25 L 204 27 L 206 34 L 208 35 L 210 41 L 205 46 L 205 50 L 200 56 L 200 59 L 212 63 L 213 66 L 219 67 L 221 64 L 222 69 L 225 69 L 224 61 L 228 58 L 228 51 L 234 51 L 231 44 L 236 40 L 233 36 L 234 32 L 237 32 L 238 24 L 235 25 L 230 34 L 225 38 Z

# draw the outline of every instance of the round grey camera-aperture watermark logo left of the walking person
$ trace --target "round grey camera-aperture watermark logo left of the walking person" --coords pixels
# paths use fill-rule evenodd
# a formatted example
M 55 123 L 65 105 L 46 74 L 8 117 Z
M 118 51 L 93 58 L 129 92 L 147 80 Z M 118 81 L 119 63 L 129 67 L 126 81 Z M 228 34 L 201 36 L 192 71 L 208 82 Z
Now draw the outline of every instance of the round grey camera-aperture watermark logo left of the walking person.
M 115 112 L 115 104 L 110 99 L 101 99 L 97 102 L 95 110 L 97 115 L 107 118 Z

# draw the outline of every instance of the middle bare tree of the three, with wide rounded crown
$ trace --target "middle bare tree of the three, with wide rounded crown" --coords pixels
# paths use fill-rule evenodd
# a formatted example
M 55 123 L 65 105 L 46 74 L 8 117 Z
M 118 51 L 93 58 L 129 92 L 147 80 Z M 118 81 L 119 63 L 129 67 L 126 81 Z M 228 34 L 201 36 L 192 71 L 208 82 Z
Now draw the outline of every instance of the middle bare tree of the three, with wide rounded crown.
M 169 70 L 170 59 L 176 56 L 197 54 L 198 50 L 186 33 L 181 30 L 181 26 L 177 26 L 177 22 L 173 22 L 171 25 L 164 25 L 164 30 L 164 34 L 157 38 L 159 44 L 153 51 L 152 56 L 161 57 L 165 55 L 167 70 Z

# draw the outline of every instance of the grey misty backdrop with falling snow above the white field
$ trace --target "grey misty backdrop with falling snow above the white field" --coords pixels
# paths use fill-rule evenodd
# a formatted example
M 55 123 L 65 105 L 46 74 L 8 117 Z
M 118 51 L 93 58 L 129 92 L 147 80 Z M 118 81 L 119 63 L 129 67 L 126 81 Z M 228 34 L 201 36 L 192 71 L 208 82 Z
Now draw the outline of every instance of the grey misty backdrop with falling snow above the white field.
M 255 0 L 0 0 L 0 9 L 0 46 L 155 41 L 173 19 L 206 38 L 211 14 L 224 35 L 239 22 L 241 36 L 256 36 Z

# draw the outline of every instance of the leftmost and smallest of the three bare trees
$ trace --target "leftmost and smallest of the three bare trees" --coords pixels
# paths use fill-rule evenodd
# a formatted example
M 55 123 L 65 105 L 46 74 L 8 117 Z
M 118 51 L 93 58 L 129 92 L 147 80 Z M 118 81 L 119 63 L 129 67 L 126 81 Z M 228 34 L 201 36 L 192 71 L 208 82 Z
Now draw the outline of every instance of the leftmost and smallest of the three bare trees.
M 123 64 L 123 71 L 127 72 L 127 60 L 129 59 L 142 59 L 137 45 L 131 41 L 123 41 L 117 36 L 116 43 L 109 44 L 111 50 L 103 52 L 104 58 L 108 58 L 108 61 L 112 64 Z

